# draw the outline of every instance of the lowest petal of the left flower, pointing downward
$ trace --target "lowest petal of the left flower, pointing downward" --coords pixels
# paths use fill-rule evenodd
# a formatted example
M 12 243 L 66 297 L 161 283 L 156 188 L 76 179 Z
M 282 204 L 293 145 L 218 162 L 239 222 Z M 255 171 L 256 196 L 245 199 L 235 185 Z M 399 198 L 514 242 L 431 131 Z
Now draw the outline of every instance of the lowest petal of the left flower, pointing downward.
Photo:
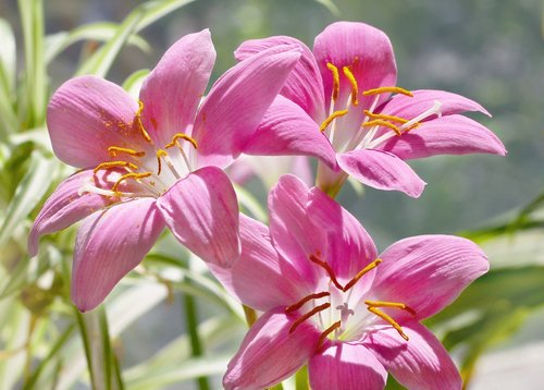
M 99 305 L 151 249 L 164 228 L 154 199 L 139 198 L 96 212 L 77 232 L 72 301 L 81 312 Z

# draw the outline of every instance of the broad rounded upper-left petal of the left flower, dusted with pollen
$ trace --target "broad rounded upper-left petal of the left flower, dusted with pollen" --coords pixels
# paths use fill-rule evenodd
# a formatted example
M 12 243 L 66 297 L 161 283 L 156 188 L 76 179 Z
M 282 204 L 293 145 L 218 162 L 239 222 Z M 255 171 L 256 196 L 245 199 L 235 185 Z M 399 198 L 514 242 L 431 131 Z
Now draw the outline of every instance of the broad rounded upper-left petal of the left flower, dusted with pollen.
M 138 105 L 120 86 L 97 76 L 69 80 L 52 96 L 47 127 L 54 154 L 79 168 L 111 160 L 108 147 L 148 145 L 133 126 Z

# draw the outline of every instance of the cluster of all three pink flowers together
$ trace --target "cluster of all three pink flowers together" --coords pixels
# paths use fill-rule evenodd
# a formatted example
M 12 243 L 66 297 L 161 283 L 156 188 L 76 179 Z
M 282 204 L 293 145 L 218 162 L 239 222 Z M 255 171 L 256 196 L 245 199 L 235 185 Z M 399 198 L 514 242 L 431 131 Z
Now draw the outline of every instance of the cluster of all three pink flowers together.
M 215 51 L 210 33 L 174 44 L 139 101 L 95 76 L 52 96 L 57 156 L 79 171 L 62 182 L 28 240 L 83 220 L 72 298 L 99 305 L 164 228 L 226 290 L 264 314 L 224 377 L 227 389 L 274 386 L 308 364 L 312 389 L 382 389 L 387 371 L 417 389 L 459 389 L 437 339 L 420 324 L 486 272 L 483 252 L 447 235 L 409 237 L 378 255 L 333 197 L 348 175 L 418 197 L 425 183 L 405 160 L 437 154 L 505 155 L 487 112 L 441 90 L 396 86 L 387 36 L 339 22 L 313 52 L 280 36 L 244 42 L 238 63 L 202 99 Z M 239 214 L 224 169 L 240 155 L 318 158 L 317 186 L 284 175 L 269 195 L 269 226 Z

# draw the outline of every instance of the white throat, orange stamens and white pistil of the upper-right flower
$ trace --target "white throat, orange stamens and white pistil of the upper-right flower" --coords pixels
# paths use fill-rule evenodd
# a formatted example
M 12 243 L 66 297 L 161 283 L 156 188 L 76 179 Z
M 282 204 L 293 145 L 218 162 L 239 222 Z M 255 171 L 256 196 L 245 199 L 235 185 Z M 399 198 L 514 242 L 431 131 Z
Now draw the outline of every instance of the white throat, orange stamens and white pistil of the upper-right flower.
M 421 121 L 432 115 L 441 115 L 442 103 L 437 100 L 432 107 L 411 119 L 374 112 L 380 96 L 383 94 L 400 94 L 408 97 L 413 97 L 413 94 L 395 86 L 360 92 L 354 75 L 354 66 L 357 63 L 358 59 L 356 58 L 351 65 L 342 66 L 342 73 L 338 66 L 331 62 L 326 63 L 326 68 L 331 71 L 333 86 L 329 117 L 321 122 L 320 131 L 329 137 L 336 151 L 374 148 L 393 136 L 401 136 L 418 127 Z M 338 101 L 342 96 L 342 76 L 347 82 L 344 85 L 349 87 L 349 96 L 344 102 Z M 362 110 L 357 108 L 360 99 L 369 96 L 375 96 L 370 107 Z M 348 127 L 350 131 L 346 133 L 346 129 L 343 127 Z

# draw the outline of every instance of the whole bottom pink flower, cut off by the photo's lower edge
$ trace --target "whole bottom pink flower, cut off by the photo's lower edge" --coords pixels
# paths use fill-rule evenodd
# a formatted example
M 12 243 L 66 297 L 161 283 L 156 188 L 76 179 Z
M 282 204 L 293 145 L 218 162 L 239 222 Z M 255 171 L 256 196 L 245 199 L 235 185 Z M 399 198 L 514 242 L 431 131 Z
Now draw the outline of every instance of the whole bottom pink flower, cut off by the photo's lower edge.
M 401 240 L 381 255 L 367 231 L 318 187 L 284 175 L 270 231 L 240 218 L 242 256 L 212 266 L 246 305 L 265 312 L 228 364 L 226 389 L 262 389 L 308 364 L 310 387 L 460 389 L 446 350 L 421 320 L 452 303 L 489 264 L 472 242 Z

